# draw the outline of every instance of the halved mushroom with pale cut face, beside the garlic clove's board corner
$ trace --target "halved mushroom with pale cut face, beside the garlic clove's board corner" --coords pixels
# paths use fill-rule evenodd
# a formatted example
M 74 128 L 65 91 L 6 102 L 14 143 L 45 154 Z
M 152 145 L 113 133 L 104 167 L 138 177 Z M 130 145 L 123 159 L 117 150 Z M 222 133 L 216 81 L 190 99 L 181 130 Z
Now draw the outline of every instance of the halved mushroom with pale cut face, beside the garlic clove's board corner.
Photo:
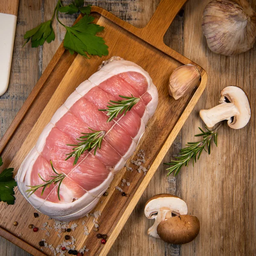
M 244 91 L 236 86 L 228 86 L 221 91 L 221 104 L 208 110 L 200 111 L 201 119 L 208 128 L 216 123 L 227 120 L 233 129 L 241 129 L 250 120 L 251 111 L 248 98 Z

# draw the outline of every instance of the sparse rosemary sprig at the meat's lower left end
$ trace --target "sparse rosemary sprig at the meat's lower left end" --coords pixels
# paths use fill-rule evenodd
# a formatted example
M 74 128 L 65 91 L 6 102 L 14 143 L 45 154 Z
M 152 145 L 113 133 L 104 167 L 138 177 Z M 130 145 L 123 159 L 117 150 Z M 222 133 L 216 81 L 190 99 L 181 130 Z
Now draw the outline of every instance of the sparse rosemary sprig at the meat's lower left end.
M 66 176 L 65 176 L 63 173 L 58 173 L 58 172 L 56 172 L 55 169 L 54 169 L 54 167 L 53 167 L 53 165 L 52 165 L 52 161 L 50 161 L 50 163 L 51 163 L 51 166 L 52 166 L 52 170 L 53 170 L 53 172 L 56 173 L 56 175 L 55 175 L 55 176 L 50 176 L 50 177 L 52 177 L 52 179 L 50 179 L 50 180 L 44 180 L 44 179 L 41 177 L 41 175 L 38 173 L 38 175 L 39 175 L 39 177 L 41 178 L 41 180 L 43 180 L 45 183 L 40 184 L 40 185 L 36 185 L 36 186 L 28 186 L 28 187 L 30 187 L 30 189 L 27 189 L 27 190 L 26 190 L 26 192 L 29 193 L 29 194 L 28 194 L 28 197 L 30 197 L 32 194 L 34 194 L 34 193 L 35 193 L 39 188 L 41 188 L 41 187 L 43 187 L 43 190 L 42 190 L 42 193 L 41 193 L 41 195 L 43 195 L 43 194 L 44 194 L 44 190 L 45 190 L 47 187 L 51 186 L 52 183 L 53 183 L 53 184 L 57 184 L 57 183 L 59 182 L 59 184 L 58 184 L 58 199 L 61 200 L 61 198 L 60 198 L 61 182 L 64 180 L 64 177 L 66 177 Z

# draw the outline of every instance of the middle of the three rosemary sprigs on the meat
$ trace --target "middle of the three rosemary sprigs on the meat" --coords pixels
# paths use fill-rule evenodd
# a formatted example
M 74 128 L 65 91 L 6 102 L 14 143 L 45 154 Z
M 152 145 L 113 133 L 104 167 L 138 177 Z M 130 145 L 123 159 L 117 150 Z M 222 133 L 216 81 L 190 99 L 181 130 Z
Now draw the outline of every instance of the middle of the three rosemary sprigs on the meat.
M 65 160 L 68 160 L 70 157 L 75 157 L 74 160 L 74 165 L 76 165 L 77 161 L 79 160 L 79 157 L 81 154 L 84 153 L 85 150 L 90 151 L 91 149 L 94 149 L 94 155 L 96 154 L 97 148 L 101 148 L 102 140 L 105 135 L 105 131 L 95 131 L 91 128 L 89 128 L 91 133 L 81 133 L 84 134 L 84 136 L 79 137 L 79 142 L 78 144 L 67 144 L 68 146 L 75 146 L 73 148 L 72 152 L 66 154 L 68 156 Z

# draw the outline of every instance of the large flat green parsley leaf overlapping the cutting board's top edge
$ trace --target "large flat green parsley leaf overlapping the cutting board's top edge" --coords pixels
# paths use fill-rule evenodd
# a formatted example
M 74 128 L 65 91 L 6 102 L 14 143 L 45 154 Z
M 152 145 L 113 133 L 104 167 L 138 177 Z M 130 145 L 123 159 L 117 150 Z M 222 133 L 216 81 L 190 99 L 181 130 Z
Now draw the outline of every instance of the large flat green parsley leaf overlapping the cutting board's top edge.
M 94 17 L 85 15 L 78 23 L 72 27 L 67 27 L 67 33 L 64 38 L 64 47 L 69 49 L 70 53 L 74 51 L 86 56 L 90 55 L 108 55 L 108 46 L 103 38 L 96 36 L 104 27 L 91 23 Z

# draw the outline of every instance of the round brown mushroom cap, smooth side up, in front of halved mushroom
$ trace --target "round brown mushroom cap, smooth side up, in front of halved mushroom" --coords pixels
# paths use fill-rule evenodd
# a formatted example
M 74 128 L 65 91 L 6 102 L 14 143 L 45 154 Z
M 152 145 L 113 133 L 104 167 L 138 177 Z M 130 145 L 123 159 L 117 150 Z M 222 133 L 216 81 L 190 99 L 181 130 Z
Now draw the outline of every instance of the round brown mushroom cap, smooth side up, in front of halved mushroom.
M 200 223 L 196 216 L 180 215 L 161 221 L 157 226 L 160 239 L 170 244 L 186 244 L 196 238 Z

